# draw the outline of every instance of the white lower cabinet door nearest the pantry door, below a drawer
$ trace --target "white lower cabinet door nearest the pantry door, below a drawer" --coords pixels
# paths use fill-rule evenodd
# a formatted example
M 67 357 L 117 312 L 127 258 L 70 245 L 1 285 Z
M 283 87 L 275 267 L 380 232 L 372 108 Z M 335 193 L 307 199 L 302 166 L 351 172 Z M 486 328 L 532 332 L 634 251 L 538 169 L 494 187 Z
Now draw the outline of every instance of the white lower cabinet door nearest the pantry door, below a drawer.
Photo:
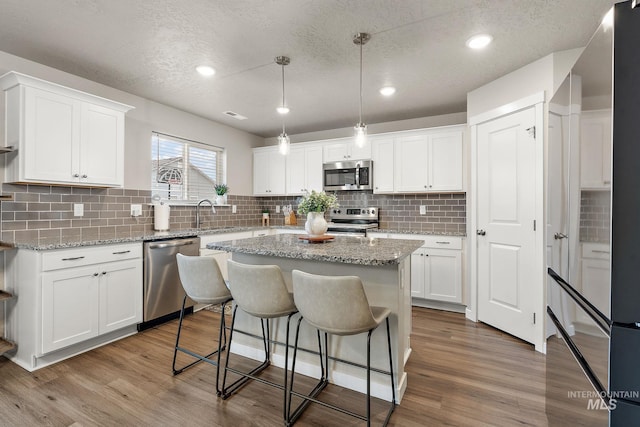
M 424 298 L 462 302 L 462 254 L 460 251 L 425 251 Z

